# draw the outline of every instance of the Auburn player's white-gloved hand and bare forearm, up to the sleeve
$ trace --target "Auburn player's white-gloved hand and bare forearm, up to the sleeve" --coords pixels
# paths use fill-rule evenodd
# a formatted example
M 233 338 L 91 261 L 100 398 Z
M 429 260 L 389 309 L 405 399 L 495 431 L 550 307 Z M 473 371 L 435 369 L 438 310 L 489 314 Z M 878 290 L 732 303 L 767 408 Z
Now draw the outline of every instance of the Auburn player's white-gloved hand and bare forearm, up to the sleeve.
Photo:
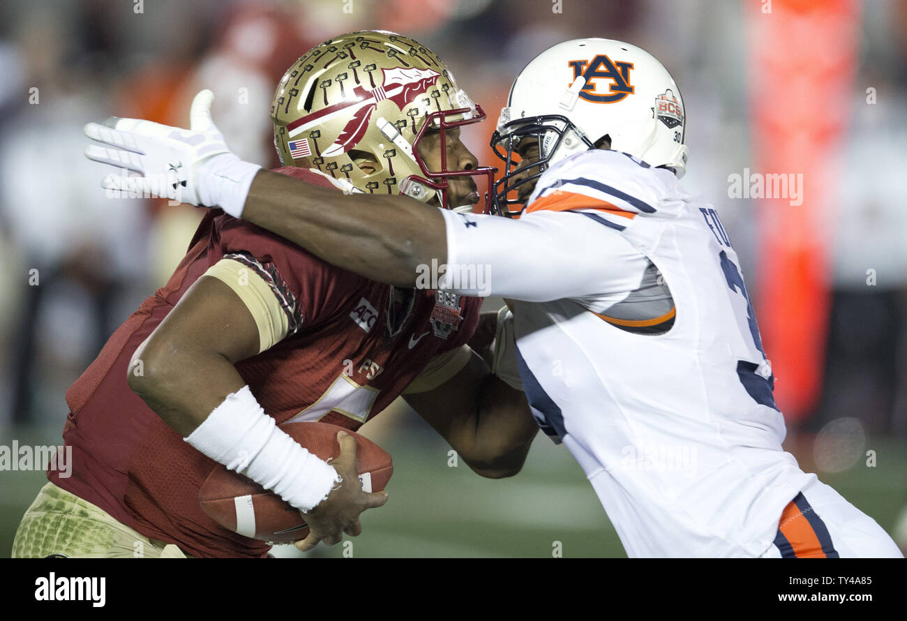
M 85 125 L 93 141 L 85 155 L 115 170 L 102 179 L 108 195 L 138 192 L 245 215 L 338 267 L 393 285 L 412 286 L 425 257 L 444 262 L 438 209 L 401 196 L 340 194 L 239 160 L 211 120 L 213 99 L 207 90 L 195 96 L 189 130 L 116 117 Z

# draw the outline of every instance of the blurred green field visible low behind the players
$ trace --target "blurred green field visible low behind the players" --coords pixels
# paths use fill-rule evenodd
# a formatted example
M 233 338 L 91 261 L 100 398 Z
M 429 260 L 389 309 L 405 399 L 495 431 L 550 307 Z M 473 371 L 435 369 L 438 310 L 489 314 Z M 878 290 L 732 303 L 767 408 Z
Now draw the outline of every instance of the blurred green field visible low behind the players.
M 547 438 L 536 439 L 518 476 L 486 480 L 462 461 L 449 467 L 444 441 L 402 408 L 383 413 L 363 431 L 394 456 L 390 498 L 385 507 L 364 514 L 363 534 L 351 539 L 352 548 L 319 547 L 306 556 L 341 557 L 346 551 L 356 558 L 551 558 L 555 542 L 561 542 L 564 558 L 625 556 L 579 465 Z M 13 438 L 20 445 L 60 441 L 56 429 L 7 429 L 0 433 L 0 444 Z M 867 447 L 876 451 L 876 467 L 859 461 L 848 471 L 820 478 L 891 531 L 907 500 L 907 450 L 881 439 L 871 439 Z M 790 450 L 805 470 L 812 470 L 809 451 Z M 18 520 L 44 480 L 43 472 L 0 471 L 2 556 L 9 556 Z M 275 552 L 297 554 L 292 547 Z

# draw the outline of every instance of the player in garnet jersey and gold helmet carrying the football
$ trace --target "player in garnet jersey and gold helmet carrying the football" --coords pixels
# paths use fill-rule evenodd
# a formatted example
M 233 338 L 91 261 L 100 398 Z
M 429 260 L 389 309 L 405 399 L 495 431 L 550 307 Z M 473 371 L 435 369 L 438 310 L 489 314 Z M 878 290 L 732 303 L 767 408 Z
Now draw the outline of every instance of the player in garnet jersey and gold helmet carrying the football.
M 174 138 L 197 154 L 232 157 L 211 123 L 210 99 L 204 92 L 193 104 L 195 131 Z M 458 138 L 460 125 L 484 118 L 481 108 L 434 53 L 403 36 L 363 32 L 318 45 L 284 76 L 271 114 L 286 165 L 274 174 L 328 195 L 405 191 L 421 205 L 472 210 L 473 178 L 491 189 L 493 170 L 478 168 Z M 111 128 L 96 129 L 112 138 Z M 141 157 L 121 163 L 132 168 Z M 174 160 L 170 169 L 194 174 L 189 163 Z M 254 171 L 240 165 L 218 175 L 248 188 Z M 171 189 L 194 187 L 171 181 Z M 48 471 L 14 556 L 267 555 L 266 542 L 200 509 L 215 462 L 306 514 L 311 532 L 300 548 L 355 536 L 359 514 L 386 494 L 360 488 L 352 436 L 340 434 L 341 454 L 328 464 L 276 425 L 356 430 L 400 394 L 474 471 L 514 474 L 537 427 L 522 391 L 466 345 L 480 305 L 356 276 L 211 211 L 167 285 L 67 391 L 72 476 Z

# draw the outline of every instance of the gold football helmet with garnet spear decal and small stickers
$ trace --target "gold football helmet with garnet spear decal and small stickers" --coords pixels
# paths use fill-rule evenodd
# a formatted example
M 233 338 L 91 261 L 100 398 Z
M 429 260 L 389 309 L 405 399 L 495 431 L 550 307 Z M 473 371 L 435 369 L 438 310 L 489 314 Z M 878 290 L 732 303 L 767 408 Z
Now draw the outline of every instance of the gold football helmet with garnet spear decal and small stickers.
M 447 180 L 483 176 L 487 210 L 496 169 L 448 169 L 444 136 L 485 112 L 434 52 L 408 37 L 363 31 L 317 45 L 281 78 L 270 113 L 284 166 L 318 170 L 345 191 L 437 198 L 469 211 L 447 204 Z M 429 129 L 440 131 L 441 170 L 427 170 L 419 155 Z

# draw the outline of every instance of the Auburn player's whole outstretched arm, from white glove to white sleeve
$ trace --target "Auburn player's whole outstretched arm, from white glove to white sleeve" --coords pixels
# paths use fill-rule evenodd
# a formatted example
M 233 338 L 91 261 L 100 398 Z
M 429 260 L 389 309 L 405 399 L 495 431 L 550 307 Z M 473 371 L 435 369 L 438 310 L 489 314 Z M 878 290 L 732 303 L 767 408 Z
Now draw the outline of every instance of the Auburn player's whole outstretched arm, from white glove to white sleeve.
M 511 220 L 455 214 L 403 196 L 340 194 L 260 170 L 224 144 L 210 119 L 212 98 L 210 91 L 196 96 L 190 130 L 136 119 L 86 125 L 95 142 L 85 154 L 132 171 L 108 176 L 102 185 L 220 207 L 328 263 L 396 286 L 418 286 L 420 267 L 434 259 L 437 265 L 483 270 L 487 278 L 473 286 L 443 283 L 458 293 L 544 301 L 608 291 L 605 270 L 623 269 L 595 252 L 601 238 L 589 232 L 604 226 L 580 215 L 582 226 L 561 227 L 555 235 L 535 215 Z

